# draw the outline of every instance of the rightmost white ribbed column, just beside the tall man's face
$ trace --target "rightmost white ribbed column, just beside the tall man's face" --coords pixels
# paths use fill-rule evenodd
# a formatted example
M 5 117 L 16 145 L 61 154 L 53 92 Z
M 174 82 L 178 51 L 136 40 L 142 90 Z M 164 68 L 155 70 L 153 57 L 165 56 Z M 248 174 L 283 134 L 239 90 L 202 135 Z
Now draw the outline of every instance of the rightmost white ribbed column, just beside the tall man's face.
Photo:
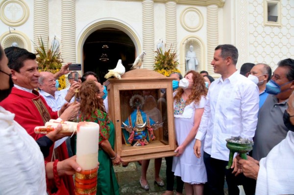
M 219 17 L 218 5 L 211 4 L 207 6 L 207 71 L 214 74 L 213 67 L 210 65 L 215 48 L 219 44 Z

